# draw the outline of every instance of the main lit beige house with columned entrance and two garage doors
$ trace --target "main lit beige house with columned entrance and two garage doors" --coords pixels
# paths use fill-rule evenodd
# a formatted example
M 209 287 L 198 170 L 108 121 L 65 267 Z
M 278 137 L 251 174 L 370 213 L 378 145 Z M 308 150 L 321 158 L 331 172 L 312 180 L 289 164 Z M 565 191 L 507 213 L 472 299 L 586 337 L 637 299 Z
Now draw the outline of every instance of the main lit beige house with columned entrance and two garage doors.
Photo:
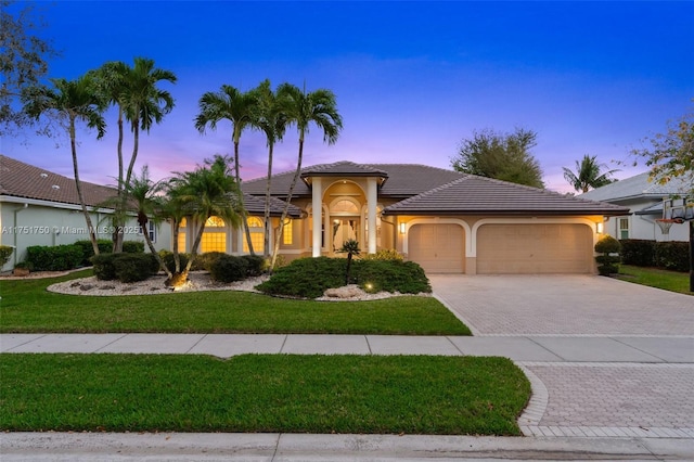
M 293 177 L 293 171 L 272 176 L 272 197 L 285 200 Z M 246 196 L 259 198 L 266 187 L 266 178 L 242 184 Z M 397 249 L 427 272 L 466 274 L 593 273 L 593 245 L 604 217 L 629 213 L 620 205 L 425 165 L 351 162 L 304 168 L 292 205 L 295 214 L 280 247 L 287 259 L 333 256 L 354 239 L 362 253 Z M 260 253 L 256 218 L 252 235 Z M 277 233 L 278 218 L 272 228 Z M 231 239 L 233 247 L 226 251 L 243 253 L 241 233 Z

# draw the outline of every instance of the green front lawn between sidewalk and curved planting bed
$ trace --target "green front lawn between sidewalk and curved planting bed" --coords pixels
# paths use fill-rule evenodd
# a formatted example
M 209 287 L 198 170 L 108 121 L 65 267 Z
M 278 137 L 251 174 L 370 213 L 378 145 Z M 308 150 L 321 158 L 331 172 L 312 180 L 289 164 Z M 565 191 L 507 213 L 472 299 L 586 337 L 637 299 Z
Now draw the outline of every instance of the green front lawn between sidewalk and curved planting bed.
M 0 281 L 0 332 L 470 335 L 433 297 L 312 301 L 234 291 L 117 297 L 46 291 L 90 274 Z

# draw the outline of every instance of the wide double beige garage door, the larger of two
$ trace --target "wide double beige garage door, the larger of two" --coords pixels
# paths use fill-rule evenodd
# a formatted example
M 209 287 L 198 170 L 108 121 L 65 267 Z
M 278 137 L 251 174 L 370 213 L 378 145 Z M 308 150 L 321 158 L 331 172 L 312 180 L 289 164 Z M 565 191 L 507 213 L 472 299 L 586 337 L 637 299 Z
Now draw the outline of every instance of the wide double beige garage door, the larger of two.
M 477 273 L 591 273 L 591 231 L 586 224 L 483 224 Z

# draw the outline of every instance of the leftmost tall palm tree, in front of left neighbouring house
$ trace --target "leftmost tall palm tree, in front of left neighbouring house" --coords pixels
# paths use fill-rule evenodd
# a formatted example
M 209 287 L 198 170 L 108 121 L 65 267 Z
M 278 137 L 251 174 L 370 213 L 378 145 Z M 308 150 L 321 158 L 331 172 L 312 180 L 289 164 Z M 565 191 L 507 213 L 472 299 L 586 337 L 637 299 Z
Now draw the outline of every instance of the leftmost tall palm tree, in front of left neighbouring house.
M 97 129 L 97 139 L 101 139 L 106 132 L 106 123 L 102 115 L 106 104 L 97 91 L 94 80 L 91 76 L 85 75 L 75 80 L 64 78 L 51 79 L 54 89 L 43 89 L 40 94 L 25 105 L 25 112 L 38 119 L 41 114 L 54 113 L 59 119 L 66 121 L 66 129 L 69 136 L 69 145 L 73 154 L 73 170 L 75 174 L 75 187 L 85 221 L 89 232 L 89 240 L 94 249 L 94 255 L 99 255 L 97 244 L 97 233 L 87 210 L 87 203 L 82 193 L 81 181 L 79 180 L 79 167 L 77 164 L 77 120 L 85 121 L 87 127 Z

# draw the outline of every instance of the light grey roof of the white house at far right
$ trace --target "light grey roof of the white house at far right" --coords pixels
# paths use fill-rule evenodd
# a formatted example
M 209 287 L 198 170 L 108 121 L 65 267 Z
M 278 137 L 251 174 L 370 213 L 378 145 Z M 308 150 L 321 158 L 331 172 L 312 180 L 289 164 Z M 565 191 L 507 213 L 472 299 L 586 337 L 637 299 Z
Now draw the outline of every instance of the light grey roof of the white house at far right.
M 663 198 L 692 190 L 692 177 L 673 178 L 666 184 L 648 181 L 648 172 L 637 175 L 614 183 L 588 191 L 578 197 L 592 201 L 620 201 L 637 197 Z

